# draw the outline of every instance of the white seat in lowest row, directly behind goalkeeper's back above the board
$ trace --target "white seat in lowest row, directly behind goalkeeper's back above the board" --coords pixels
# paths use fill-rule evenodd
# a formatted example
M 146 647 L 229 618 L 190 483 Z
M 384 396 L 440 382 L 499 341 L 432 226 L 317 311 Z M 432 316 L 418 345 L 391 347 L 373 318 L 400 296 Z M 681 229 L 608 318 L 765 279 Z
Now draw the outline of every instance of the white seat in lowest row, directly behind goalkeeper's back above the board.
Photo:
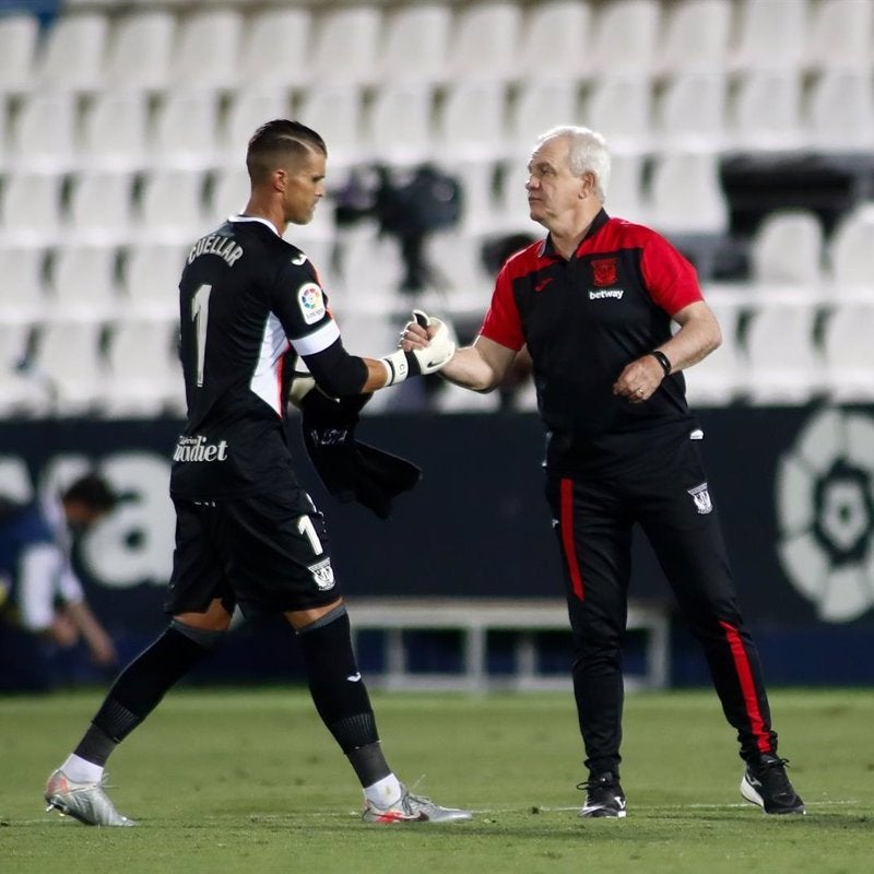
M 185 383 L 178 353 L 176 319 L 131 319 L 109 335 L 102 413 L 108 417 L 143 417 L 185 411 Z M 143 367 L 143 362 L 149 366 Z

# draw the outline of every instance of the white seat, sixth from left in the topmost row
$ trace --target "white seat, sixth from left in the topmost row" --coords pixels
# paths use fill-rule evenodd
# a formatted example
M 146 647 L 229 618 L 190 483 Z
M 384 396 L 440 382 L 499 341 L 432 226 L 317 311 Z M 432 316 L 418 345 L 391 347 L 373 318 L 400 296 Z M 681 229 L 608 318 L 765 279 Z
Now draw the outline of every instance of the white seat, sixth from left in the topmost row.
M 341 5 L 321 11 L 312 37 L 310 83 L 358 87 L 373 84 L 379 69 L 381 27 L 379 5 Z

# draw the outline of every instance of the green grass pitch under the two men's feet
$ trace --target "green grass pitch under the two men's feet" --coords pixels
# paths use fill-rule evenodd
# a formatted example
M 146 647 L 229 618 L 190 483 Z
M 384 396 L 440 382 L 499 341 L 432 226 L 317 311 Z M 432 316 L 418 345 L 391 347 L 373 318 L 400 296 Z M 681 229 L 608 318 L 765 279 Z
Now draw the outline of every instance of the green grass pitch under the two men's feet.
M 768 817 L 710 690 L 626 701 L 624 820 L 581 820 L 570 694 L 374 694 L 389 761 L 471 823 L 375 827 L 299 688 L 172 692 L 116 753 L 111 796 L 138 828 L 44 813 L 49 771 L 102 689 L 0 698 L 5 874 L 849 874 L 874 870 L 874 694 L 771 693 L 781 753 L 807 804 Z

